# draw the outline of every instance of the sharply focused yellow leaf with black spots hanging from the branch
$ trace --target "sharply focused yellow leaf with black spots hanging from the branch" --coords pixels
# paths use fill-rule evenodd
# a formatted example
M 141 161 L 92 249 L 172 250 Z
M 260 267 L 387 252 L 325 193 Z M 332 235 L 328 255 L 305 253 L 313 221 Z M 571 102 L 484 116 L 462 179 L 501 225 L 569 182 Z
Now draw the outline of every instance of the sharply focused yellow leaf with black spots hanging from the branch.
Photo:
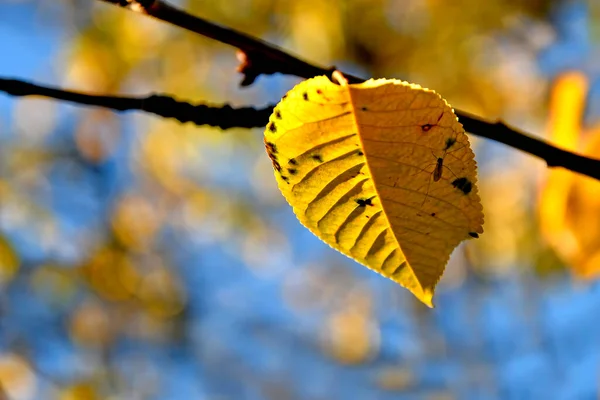
M 275 107 L 265 146 L 304 226 L 430 307 L 450 253 L 483 233 L 468 138 L 431 90 L 309 79 Z

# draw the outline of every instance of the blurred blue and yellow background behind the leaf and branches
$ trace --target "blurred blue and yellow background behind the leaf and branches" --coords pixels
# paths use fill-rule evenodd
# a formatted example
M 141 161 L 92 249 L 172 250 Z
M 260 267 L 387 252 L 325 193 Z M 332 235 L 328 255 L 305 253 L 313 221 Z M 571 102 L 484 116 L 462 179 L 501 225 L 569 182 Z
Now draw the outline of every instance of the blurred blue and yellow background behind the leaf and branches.
M 172 1 L 600 156 L 600 2 Z M 459 4 L 459 5 L 458 5 Z M 262 107 L 235 50 L 0 0 L 0 76 Z M 0 96 L 0 398 L 597 399 L 600 182 L 471 136 L 485 233 L 427 309 L 294 217 L 260 129 Z

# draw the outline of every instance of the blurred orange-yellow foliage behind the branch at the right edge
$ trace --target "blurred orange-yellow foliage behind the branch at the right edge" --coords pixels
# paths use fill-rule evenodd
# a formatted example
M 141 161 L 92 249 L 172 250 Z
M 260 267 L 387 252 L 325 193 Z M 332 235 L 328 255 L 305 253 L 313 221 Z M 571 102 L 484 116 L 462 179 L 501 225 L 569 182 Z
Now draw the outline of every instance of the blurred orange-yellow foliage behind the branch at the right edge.
M 600 154 L 600 129 L 582 127 L 588 80 L 583 73 L 560 76 L 552 89 L 549 139 L 567 150 Z M 552 169 L 540 191 L 540 229 L 548 243 L 582 278 L 600 273 L 600 182 Z

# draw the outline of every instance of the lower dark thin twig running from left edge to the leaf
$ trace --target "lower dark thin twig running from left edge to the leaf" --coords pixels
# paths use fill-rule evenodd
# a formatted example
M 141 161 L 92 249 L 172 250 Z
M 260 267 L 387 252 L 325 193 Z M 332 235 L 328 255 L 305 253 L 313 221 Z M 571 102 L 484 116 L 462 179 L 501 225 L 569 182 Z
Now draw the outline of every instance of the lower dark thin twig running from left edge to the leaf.
M 40 86 L 17 79 L 0 78 L 0 92 L 13 96 L 43 96 L 76 104 L 99 106 L 115 111 L 141 110 L 174 118 L 179 122 L 210 125 L 221 129 L 256 128 L 265 126 L 273 107 L 257 110 L 252 107 L 232 108 L 230 105 L 192 105 L 165 95 L 147 97 L 99 96 L 83 94 L 58 88 Z

